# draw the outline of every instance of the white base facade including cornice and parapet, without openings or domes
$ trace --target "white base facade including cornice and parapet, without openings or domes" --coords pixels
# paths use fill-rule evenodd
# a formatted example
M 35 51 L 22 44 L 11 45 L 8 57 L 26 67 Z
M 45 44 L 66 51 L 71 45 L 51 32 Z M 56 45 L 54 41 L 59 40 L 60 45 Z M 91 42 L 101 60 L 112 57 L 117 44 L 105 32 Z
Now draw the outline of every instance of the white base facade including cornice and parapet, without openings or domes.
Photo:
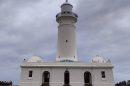
M 84 86 L 84 73 L 89 71 L 92 75 L 93 86 L 114 86 L 113 66 L 110 63 L 79 63 L 79 62 L 56 62 L 56 63 L 28 63 L 21 65 L 20 86 L 40 86 L 42 84 L 43 72 L 50 72 L 50 86 L 64 85 L 64 72 L 70 72 L 71 86 Z M 31 79 L 28 78 L 28 71 L 33 71 Z M 101 77 L 101 71 L 106 72 L 106 78 Z

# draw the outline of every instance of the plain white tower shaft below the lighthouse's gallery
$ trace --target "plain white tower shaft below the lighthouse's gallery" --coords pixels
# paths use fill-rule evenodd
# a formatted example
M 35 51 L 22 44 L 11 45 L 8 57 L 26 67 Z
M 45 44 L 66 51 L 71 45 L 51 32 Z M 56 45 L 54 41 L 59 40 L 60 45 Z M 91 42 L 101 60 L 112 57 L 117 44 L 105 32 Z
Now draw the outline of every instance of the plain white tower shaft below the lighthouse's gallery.
M 73 19 L 62 19 L 58 27 L 58 44 L 56 61 L 77 61 L 76 27 Z M 67 40 L 67 42 L 66 42 Z

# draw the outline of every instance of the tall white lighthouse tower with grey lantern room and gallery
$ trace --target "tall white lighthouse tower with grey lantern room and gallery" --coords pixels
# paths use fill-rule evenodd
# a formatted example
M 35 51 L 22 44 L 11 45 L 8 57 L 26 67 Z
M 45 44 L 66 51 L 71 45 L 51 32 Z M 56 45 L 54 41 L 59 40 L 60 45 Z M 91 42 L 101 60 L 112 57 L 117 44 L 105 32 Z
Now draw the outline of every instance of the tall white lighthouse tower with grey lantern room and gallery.
M 56 61 L 78 61 L 75 26 L 78 16 L 72 8 L 66 0 L 61 5 L 61 12 L 56 15 L 56 21 L 59 23 Z

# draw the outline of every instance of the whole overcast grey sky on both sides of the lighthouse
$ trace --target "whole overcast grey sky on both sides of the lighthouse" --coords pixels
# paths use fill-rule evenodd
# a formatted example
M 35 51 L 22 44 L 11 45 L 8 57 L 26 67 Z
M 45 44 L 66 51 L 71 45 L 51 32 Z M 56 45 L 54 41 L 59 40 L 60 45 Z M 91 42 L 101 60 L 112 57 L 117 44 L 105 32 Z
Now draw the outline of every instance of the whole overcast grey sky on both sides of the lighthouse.
M 0 0 L 0 81 L 19 83 L 24 58 L 55 61 L 55 16 L 65 0 Z M 130 0 L 69 0 L 77 22 L 80 61 L 111 59 L 115 82 L 130 79 Z

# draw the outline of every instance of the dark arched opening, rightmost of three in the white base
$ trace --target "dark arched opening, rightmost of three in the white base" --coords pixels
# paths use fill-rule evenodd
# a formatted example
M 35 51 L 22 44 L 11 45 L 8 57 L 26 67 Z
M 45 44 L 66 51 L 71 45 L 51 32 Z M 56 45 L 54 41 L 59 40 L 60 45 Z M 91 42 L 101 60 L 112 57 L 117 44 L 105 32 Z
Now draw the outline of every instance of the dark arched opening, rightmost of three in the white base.
M 84 86 L 92 86 L 92 77 L 90 72 L 84 73 Z

